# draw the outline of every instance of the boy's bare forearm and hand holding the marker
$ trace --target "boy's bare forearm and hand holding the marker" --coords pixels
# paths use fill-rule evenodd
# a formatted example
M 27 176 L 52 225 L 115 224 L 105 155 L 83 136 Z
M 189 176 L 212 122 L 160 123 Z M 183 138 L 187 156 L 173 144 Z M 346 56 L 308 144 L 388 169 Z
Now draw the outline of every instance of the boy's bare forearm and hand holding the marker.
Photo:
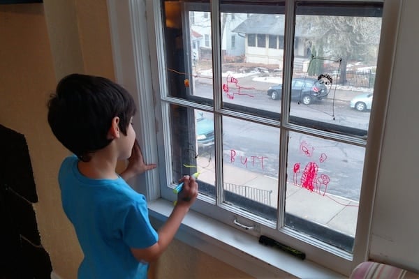
M 198 183 L 193 176 L 185 176 L 182 191 L 177 195 L 177 204 L 168 220 L 159 229 L 159 241 L 145 249 L 131 248 L 133 256 L 138 261 L 154 262 L 168 248 L 175 237 L 183 218 L 198 196 Z M 140 236 L 139 236 L 140 237 Z

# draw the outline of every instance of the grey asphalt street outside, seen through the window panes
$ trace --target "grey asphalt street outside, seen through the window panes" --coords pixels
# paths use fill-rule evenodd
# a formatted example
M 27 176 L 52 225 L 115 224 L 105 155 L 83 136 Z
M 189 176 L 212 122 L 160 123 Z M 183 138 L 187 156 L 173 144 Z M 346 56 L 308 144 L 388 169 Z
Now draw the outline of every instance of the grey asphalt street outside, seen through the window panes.
M 207 98 L 212 96 L 210 84 L 197 84 L 197 91 L 200 96 Z M 367 129 L 369 112 L 351 109 L 348 100 L 333 100 L 330 96 L 328 97 L 311 105 L 302 105 L 292 101 L 291 115 L 351 128 Z M 270 112 L 280 112 L 281 107 L 280 100 L 272 100 L 266 93 L 253 93 L 252 97 L 236 95 L 233 99 L 223 98 L 223 100 L 243 106 L 251 105 L 251 107 Z M 212 114 L 205 113 L 205 117 L 211 119 Z M 278 128 L 224 116 L 223 163 L 277 178 L 279 133 Z M 291 133 L 288 140 L 287 181 L 300 186 L 306 185 L 307 175 L 310 174 L 309 169 L 314 169 L 315 179 L 310 182 L 311 184 L 306 185 L 310 188 L 309 190 L 318 191 L 321 195 L 332 194 L 358 202 L 364 156 L 363 147 Z M 225 182 L 234 183 L 235 181 Z M 276 185 L 258 187 L 269 190 Z

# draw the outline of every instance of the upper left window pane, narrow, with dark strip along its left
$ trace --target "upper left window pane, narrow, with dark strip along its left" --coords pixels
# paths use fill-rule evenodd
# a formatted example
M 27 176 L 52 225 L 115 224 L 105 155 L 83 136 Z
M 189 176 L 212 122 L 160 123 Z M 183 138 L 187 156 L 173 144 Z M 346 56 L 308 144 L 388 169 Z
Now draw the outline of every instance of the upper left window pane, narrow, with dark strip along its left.
M 212 103 L 212 47 L 209 1 L 164 1 L 168 96 Z M 186 17 L 184 15 L 187 15 Z

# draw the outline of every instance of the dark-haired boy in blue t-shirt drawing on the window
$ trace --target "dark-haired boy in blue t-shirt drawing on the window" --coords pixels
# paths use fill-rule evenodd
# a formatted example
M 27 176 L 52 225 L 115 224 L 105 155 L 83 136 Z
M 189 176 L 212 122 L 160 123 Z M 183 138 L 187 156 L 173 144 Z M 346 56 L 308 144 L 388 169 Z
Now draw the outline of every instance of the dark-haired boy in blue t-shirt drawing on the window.
M 148 263 L 166 250 L 196 200 L 196 180 L 184 176 L 177 204 L 156 232 L 145 197 L 125 182 L 156 167 L 145 165 L 135 140 L 131 95 L 103 77 L 73 74 L 59 82 L 48 108 L 52 132 L 75 154 L 64 159 L 59 186 L 84 253 L 78 278 L 147 278 Z M 126 159 L 118 175 L 117 160 Z

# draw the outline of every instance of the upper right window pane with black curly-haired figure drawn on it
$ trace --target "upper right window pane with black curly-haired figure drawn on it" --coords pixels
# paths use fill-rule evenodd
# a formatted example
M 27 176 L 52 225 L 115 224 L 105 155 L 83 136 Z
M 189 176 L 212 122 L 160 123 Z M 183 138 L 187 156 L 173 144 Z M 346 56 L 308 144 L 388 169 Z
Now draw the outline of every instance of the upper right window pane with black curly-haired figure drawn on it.
M 309 86 L 292 88 L 290 113 L 297 118 L 291 122 L 312 126 L 312 121 L 321 121 L 317 128 L 322 130 L 351 135 L 346 128 L 355 128 L 367 135 L 381 17 L 358 9 L 354 13 L 353 6 L 297 6 L 293 80 Z

